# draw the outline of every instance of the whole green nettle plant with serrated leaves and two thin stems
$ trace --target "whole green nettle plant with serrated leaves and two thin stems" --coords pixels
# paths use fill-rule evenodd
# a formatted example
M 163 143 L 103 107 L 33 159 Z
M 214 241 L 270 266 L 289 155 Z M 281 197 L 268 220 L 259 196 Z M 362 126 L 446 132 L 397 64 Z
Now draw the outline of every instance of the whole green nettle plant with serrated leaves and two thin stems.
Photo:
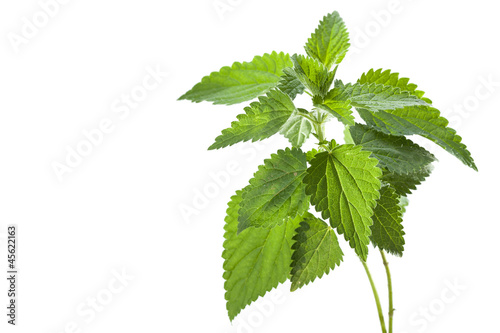
M 335 78 L 349 48 L 337 12 L 326 15 L 305 45 L 307 56 L 273 52 L 234 63 L 204 77 L 180 99 L 244 108 L 209 149 L 263 140 L 280 133 L 291 148 L 259 166 L 248 186 L 231 198 L 225 218 L 224 279 L 229 317 L 278 284 L 295 291 L 342 262 L 338 235 L 361 260 L 387 332 L 366 265 L 369 244 L 379 249 L 389 290 L 389 332 L 394 313 L 386 252 L 401 256 L 407 196 L 431 173 L 433 154 L 407 139 L 420 135 L 477 170 L 461 137 L 424 92 L 390 70 L 369 70 L 355 83 Z M 310 110 L 295 106 L 298 94 Z M 356 110 L 364 124 L 355 122 Z M 325 123 L 345 125 L 344 144 L 325 135 Z M 301 146 L 315 137 L 317 148 Z M 309 212 L 320 212 L 321 218 Z

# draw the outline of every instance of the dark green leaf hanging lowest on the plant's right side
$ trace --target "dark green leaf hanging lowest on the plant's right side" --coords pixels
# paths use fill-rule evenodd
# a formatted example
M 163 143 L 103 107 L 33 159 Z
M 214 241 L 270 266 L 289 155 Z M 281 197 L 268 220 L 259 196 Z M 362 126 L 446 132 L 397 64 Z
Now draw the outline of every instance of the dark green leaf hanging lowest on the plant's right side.
M 399 195 L 390 186 L 380 189 L 380 199 L 373 211 L 373 245 L 394 255 L 402 256 L 405 240 L 403 238 L 403 211 L 399 205 Z

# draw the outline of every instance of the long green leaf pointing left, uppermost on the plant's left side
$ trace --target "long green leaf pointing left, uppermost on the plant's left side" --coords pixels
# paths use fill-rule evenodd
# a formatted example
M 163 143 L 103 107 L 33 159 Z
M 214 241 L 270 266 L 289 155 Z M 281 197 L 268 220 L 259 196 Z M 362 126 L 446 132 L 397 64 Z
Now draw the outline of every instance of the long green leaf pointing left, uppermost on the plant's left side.
M 256 56 L 251 62 L 235 62 L 205 76 L 179 99 L 227 105 L 249 101 L 276 87 L 283 69 L 292 65 L 290 56 L 283 52 Z

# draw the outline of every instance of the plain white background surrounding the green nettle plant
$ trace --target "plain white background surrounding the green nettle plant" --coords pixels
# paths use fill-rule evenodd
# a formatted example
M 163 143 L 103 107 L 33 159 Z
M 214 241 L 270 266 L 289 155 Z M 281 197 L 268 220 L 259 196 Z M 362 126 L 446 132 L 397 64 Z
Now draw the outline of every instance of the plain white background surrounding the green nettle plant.
M 20 277 L 14 329 L 1 279 L 0 332 L 379 332 L 368 280 L 344 241 L 344 262 L 333 273 L 295 293 L 280 286 L 272 293 L 278 301 L 268 295 L 231 325 L 220 257 L 226 202 L 288 143 L 276 137 L 209 152 L 245 105 L 176 101 L 234 61 L 303 53 L 334 10 L 352 39 L 337 77 L 355 81 L 370 68 L 410 77 L 452 120 L 479 167 L 425 144 L 440 162 L 410 197 L 403 258 L 389 258 L 395 332 L 498 332 L 496 2 L 402 0 L 394 10 L 389 0 L 221 0 L 231 9 L 223 13 L 216 3 L 67 1 L 16 47 L 23 18 L 33 22 L 42 9 L 35 0 L 1 2 L 0 266 L 5 271 L 6 226 L 18 224 Z M 114 112 L 147 68 L 169 74 L 128 116 Z M 65 163 L 67 147 L 76 149 L 82 131 L 103 119 L 112 121 L 111 133 L 60 181 L 54 162 Z M 340 140 L 341 127 L 330 125 L 328 136 Z M 239 167 L 228 184 L 183 217 L 180 209 L 193 208 L 196 193 L 213 184 L 210 173 L 231 163 Z M 385 312 L 376 251 L 368 263 Z M 122 288 L 114 275 L 123 270 L 133 279 Z M 450 283 L 465 290 L 453 293 Z M 106 303 L 100 311 L 87 304 L 95 297 Z

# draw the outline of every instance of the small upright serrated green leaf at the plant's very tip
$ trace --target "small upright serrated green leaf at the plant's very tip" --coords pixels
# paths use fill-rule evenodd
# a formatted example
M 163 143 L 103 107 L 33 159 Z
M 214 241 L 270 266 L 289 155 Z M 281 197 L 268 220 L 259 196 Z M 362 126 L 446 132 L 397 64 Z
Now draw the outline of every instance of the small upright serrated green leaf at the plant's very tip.
M 338 12 L 326 15 L 305 46 L 306 53 L 327 68 L 339 64 L 349 49 L 349 33 Z

